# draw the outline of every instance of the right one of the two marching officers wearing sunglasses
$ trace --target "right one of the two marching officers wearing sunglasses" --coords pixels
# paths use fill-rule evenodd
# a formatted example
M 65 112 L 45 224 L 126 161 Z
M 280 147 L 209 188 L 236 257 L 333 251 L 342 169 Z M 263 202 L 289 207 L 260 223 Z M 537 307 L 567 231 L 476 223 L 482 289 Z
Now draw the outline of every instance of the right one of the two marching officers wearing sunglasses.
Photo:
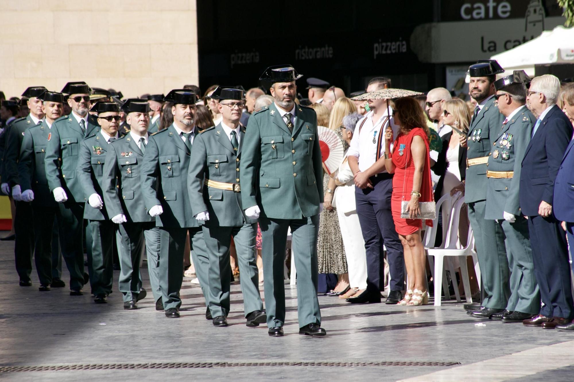
M 114 102 L 97 102 L 90 111 L 98 116 L 100 128 L 80 143 L 76 176 L 88 199 L 84 207 L 84 219 L 88 220 L 86 245 L 91 247 L 88 269 L 94 302 L 101 304 L 107 302 L 113 286 L 115 235 L 115 225 L 102 200 L 102 169 L 108 144 L 118 139 L 119 107 Z

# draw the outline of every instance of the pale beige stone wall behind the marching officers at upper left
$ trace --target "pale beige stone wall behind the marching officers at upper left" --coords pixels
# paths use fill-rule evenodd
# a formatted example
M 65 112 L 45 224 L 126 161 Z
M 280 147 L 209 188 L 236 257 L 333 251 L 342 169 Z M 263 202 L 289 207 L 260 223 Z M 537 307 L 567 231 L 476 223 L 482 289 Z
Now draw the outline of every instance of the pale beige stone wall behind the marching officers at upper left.
M 126 97 L 197 84 L 196 0 L 0 0 L 0 90 L 68 81 Z

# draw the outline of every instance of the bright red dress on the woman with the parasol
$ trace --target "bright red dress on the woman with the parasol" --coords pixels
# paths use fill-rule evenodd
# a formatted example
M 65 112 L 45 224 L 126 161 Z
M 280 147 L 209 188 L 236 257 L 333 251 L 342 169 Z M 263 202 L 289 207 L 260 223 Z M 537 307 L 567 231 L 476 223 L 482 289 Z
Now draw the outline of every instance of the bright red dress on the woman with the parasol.
M 419 198 L 419 201 L 423 202 L 434 200 L 432 193 L 432 180 L 430 178 L 428 137 L 426 137 L 425 131 L 420 127 L 413 128 L 407 135 L 400 132 L 394 142 L 392 152 L 393 164 L 396 168 L 393 177 L 391 211 L 393 212 L 395 229 L 397 230 L 397 233 L 402 236 L 411 235 L 412 233 L 417 232 L 418 229 L 422 228 L 422 220 L 403 219 L 401 217 L 401 201 L 409 201 L 410 192 L 413 190 L 414 162 L 413 155 L 410 153 L 410 143 L 413 141 L 415 135 L 418 135 L 422 138 L 426 147 L 426 159 L 424 170 L 422 171 L 422 182 L 420 189 L 421 197 Z M 407 158 L 409 161 L 408 163 L 406 162 Z M 427 220 L 426 225 L 432 227 L 432 220 Z

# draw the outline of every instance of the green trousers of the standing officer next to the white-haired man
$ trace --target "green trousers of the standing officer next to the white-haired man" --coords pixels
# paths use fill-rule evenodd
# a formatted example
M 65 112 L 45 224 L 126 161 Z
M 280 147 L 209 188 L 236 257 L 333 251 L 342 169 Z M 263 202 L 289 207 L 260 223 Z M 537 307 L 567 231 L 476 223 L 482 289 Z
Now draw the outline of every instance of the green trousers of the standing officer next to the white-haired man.
M 506 254 L 510 266 L 510 298 L 507 310 L 538 314 L 540 312 L 540 290 L 534 275 L 534 262 L 528 221 L 522 215 L 514 223 L 498 220 L 504 235 Z

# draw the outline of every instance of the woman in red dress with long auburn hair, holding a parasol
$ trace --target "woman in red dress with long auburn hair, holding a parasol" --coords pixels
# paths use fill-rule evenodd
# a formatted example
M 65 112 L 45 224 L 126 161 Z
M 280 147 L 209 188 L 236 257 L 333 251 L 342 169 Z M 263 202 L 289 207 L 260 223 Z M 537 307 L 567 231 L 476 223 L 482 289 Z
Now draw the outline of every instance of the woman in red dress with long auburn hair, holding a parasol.
M 399 305 L 426 305 L 428 291 L 425 286 L 426 259 L 421 241 L 422 220 L 414 219 L 420 214 L 419 202 L 433 201 L 430 178 L 429 142 L 426 116 L 420 104 L 413 98 L 400 98 L 394 103 L 393 118 L 401 126 L 391 153 L 393 131 L 387 128 L 385 167 L 393 177 L 391 211 L 395 229 L 404 249 L 408 285 L 405 297 Z M 411 219 L 401 217 L 401 202 L 408 201 L 406 211 Z M 432 226 L 432 220 L 426 225 Z

